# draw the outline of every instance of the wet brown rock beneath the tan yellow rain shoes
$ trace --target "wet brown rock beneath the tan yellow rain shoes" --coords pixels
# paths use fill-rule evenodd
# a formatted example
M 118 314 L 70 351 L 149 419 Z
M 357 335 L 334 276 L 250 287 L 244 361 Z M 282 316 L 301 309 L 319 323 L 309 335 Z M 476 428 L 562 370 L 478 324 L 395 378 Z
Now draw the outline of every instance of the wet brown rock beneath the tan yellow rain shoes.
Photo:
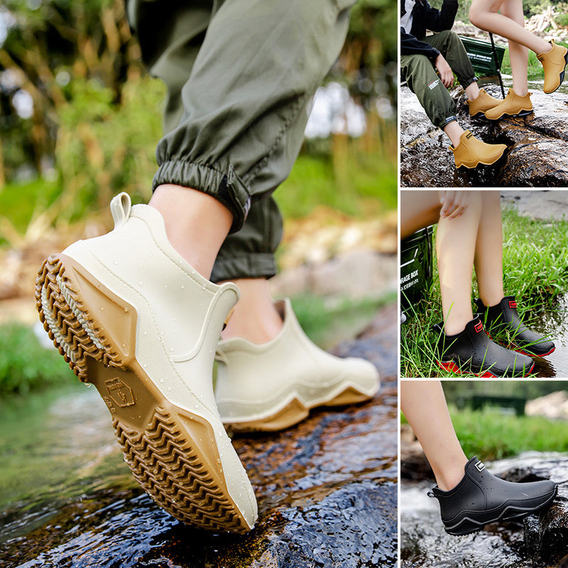
M 507 83 L 507 80 L 505 81 Z M 496 84 L 480 82 L 501 99 Z M 564 86 L 563 86 L 564 87 Z M 562 87 L 562 88 L 563 88 Z M 449 139 L 436 129 L 408 87 L 401 88 L 400 183 L 403 187 L 566 187 L 568 185 L 568 94 L 546 95 L 542 84 L 532 92 L 530 116 L 499 121 L 471 119 L 461 87 L 452 89 L 459 123 L 487 143 L 504 143 L 497 163 L 468 169 L 454 167 Z M 507 90 L 507 87 L 506 87 Z

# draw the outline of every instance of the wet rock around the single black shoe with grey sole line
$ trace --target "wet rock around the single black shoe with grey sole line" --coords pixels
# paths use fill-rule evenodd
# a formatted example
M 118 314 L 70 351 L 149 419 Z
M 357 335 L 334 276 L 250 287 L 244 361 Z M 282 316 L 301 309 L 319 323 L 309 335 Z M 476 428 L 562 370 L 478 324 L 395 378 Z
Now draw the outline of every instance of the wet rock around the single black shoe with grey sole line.
M 568 459 L 531 452 L 487 464 L 508 481 L 568 478 Z M 568 488 L 559 486 L 552 506 L 523 523 L 493 523 L 472 535 L 448 535 L 439 506 L 426 492 L 432 481 L 404 481 L 400 494 L 402 568 L 552 568 L 568 555 Z

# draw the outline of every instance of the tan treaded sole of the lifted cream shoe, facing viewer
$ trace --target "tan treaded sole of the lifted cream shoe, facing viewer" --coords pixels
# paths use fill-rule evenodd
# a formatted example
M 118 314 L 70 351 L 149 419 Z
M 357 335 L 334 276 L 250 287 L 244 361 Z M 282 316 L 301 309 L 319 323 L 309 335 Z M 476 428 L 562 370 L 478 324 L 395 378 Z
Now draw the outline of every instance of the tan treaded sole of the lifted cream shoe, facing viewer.
M 136 360 L 135 308 L 63 254 L 43 263 L 35 297 L 55 347 L 107 403 L 124 459 L 144 491 L 187 525 L 251 530 L 229 496 L 212 425 L 170 403 Z

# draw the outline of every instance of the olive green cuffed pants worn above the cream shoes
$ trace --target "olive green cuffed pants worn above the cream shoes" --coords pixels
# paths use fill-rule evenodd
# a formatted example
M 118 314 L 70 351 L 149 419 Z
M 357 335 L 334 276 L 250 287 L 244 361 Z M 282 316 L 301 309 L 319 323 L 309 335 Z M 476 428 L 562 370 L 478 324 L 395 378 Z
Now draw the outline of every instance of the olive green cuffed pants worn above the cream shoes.
M 234 217 L 212 280 L 268 278 L 282 219 L 271 193 L 300 152 L 315 90 L 339 55 L 354 0 L 129 0 L 151 75 L 168 87 L 163 183 Z

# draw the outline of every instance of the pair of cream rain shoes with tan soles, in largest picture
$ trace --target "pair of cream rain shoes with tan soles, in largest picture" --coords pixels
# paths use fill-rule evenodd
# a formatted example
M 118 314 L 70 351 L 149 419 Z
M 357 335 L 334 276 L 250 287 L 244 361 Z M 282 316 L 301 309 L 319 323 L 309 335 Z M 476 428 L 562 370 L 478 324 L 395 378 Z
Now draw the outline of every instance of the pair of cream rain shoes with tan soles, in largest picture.
M 113 231 L 43 263 L 40 319 L 75 374 L 107 403 L 144 490 L 184 523 L 247 532 L 256 498 L 223 422 L 241 430 L 287 427 L 317 405 L 371 398 L 378 373 L 366 361 L 318 349 L 289 303 L 271 342 L 219 343 L 239 299 L 236 285 L 197 273 L 170 245 L 153 207 L 131 207 L 122 193 L 111 212 Z

